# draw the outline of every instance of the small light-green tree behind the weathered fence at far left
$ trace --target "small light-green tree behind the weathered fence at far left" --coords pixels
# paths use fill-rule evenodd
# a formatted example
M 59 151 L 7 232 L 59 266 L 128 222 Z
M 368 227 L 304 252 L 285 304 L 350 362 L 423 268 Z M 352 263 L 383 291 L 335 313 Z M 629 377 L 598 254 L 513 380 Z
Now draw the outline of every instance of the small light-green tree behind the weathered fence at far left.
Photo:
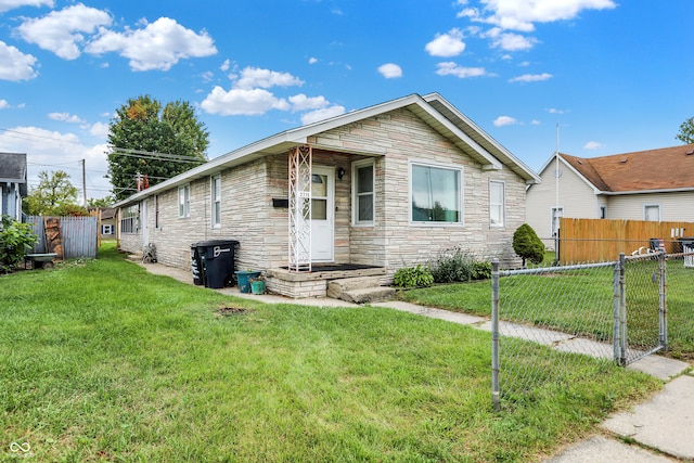
M 24 214 L 29 216 L 80 216 L 87 210 L 77 204 L 77 193 L 69 176 L 63 170 L 39 172 L 39 185 L 31 189 L 22 203 Z

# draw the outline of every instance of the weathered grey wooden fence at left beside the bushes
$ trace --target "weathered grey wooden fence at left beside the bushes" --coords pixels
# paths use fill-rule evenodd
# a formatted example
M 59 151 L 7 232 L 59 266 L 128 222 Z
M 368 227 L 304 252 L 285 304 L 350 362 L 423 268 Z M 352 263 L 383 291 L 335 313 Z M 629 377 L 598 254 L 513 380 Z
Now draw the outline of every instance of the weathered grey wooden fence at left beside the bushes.
M 39 237 L 30 253 L 48 253 L 46 220 L 42 216 L 27 216 L 25 221 L 31 223 L 34 233 Z M 57 219 L 63 246 L 64 259 L 97 258 L 99 243 L 98 217 L 50 217 Z M 53 223 L 55 220 L 52 221 Z

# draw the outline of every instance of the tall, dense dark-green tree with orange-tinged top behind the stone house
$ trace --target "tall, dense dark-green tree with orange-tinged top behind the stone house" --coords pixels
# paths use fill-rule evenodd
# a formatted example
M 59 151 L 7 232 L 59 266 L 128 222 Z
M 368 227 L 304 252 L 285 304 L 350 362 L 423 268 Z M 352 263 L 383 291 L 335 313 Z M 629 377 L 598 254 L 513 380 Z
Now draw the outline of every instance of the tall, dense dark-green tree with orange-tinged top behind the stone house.
M 138 175 L 154 185 L 206 162 L 208 137 L 188 102 L 162 107 L 150 95 L 128 100 L 108 127 L 108 177 L 115 198 L 137 190 Z

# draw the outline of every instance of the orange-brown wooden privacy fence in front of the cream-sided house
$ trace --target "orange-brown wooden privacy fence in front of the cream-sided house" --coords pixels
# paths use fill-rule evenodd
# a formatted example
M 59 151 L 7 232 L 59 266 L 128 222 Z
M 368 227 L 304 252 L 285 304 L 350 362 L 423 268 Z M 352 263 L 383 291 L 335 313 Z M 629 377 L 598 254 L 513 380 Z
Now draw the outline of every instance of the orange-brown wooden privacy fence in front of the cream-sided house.
M 651 247 L 651 239 L 664 240 L 665 250 L 682 252 L 680 237 L 694 236 L 692 222 L 653 222 L 644 220 L 560 219 L 561 265 L 615 260 L 620 253 L 630 255 Z

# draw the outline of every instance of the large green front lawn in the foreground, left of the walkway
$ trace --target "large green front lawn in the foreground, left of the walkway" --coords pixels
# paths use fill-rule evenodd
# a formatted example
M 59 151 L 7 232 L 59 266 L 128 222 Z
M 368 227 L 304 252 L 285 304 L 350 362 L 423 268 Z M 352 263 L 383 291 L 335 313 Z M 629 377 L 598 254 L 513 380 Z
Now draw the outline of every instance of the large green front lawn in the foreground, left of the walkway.
M 489 333 L 235 299 L 113 248 L 0 293 L 0 461 L 532 461 L 659 387 L 577 366 L 496 413 Z

